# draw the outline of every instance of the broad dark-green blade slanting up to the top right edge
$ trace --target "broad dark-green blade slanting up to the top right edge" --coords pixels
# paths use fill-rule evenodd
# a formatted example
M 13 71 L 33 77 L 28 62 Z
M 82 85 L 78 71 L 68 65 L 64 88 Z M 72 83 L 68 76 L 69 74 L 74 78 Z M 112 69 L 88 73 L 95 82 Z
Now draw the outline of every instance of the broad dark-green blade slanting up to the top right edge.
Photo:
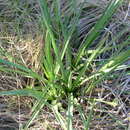
M 88 48 L 92 44 L 92 42 L 99 36 L 100 30 L 102 30 L 105 27 L 105 25 L 109 22 L 113 13 L 122 4 L 122 2 L 123 0 L 112 0 L 110 2 L 102 17 L 89 32 L 89 35 L 85 39 L 85 43 L 82 44 L 79 48 L 75 65 L 79 63 L 79 60 L 82 54 L 84 53 L 85 49 Z

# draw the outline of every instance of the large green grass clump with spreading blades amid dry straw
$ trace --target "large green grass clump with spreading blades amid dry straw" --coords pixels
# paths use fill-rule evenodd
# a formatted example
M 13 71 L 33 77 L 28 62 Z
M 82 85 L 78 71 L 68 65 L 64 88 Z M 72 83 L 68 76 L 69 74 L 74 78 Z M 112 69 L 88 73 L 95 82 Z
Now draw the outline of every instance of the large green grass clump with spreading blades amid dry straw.
M 120 66 L 129 58 L 130 49 L 126 49 L 130 43 L 129 36 L 122 43 L 115 46 L 112 45 L 113 42 L 128 32 L 127 28 L 116 34 L 111 40 L 109 32 L 101 35 L 103 29 L 108 25 L 113 14 L 122 3 L 123 0 L 112 0 L 88 34 L 83 40 L 80 39 L 79 47 L 74 48 L 75 41 L 78 40 L 75 37 L 77 24 L 84 8 L 82 4 L 79 5 L 76 1 L 71 0 L 68 5 L 70 13 L 69 15 L 64 15 L 59 0 L 54 0 L 51 4 L 46 0 L 39 0 L 41 9 L 40 23 L 44 39 L 40 54 L 40 72 L 0 59 L 1 71 L 17 73 L 34 79 L 34 84 L 24 89 L 0 92 L 0 95 L 31 96 L 36 98 L 36 103 L 32 108 L 32 116 L 21 129 L 28 129 L 44 106 L 53 111 L 57 121 L 65 130 L 73 129 L 75 109 L 80 113 L 83 127 L 87 130 L 90 128 L 94 116 L 93 111 L 96 102 L 116 106 L 115 102 L 94 99 L 91 98 L 91 95 L 97 86 L 110 78 L 114 72 L 123 70 L 124 68 L 121 69 Z M 81 6 L 79 10 L 77 6 Z M 49 7 L 51 7 L 51 10 Z M 110 53 L 109 57 L 106 56 L 105 61 L 100 60 L 102 55 L 115 48 L 118 50 L 112 54 Z M 125 68 L 127 67 L 125 66 Z M 88 115 L 83 111 L 80 104 L 82 99 L 80 97 L 86 95 L 88 96 L 87 102 L 90 105 Z M 62 104 L 62 100 L 65 100 L 67 104 Z M 65 106 L 63 107 L 63 105 Z M 66 116 L 59 112 L 62 107 Z

